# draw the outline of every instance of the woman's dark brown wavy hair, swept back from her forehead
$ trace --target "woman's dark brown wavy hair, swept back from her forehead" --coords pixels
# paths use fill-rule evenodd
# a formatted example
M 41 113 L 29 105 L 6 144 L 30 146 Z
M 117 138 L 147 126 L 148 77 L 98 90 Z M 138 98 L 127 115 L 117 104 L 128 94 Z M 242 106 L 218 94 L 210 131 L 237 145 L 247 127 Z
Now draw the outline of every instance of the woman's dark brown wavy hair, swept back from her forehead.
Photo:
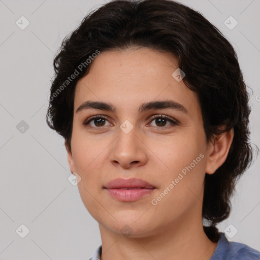
M 202 215 L 210 225 L 204 231 L 217 242 L 215 225 L 228 218 L 235 183 L 252 162 L 249 94 L 234 48 L 199 12 L 168 0 L 116 0 L 89 13 L 63 40 L 55 56 L 47 123 L 71 149 L 75 87 L 91 64 L 66 88 L 56 95 L 55 91 L 96 50 L 132 46 L 175 55 L 186 74 L 184 83 L 199 96 L 207 142 L 234 127 L 225 162 L 214 174 L 205 175 Z

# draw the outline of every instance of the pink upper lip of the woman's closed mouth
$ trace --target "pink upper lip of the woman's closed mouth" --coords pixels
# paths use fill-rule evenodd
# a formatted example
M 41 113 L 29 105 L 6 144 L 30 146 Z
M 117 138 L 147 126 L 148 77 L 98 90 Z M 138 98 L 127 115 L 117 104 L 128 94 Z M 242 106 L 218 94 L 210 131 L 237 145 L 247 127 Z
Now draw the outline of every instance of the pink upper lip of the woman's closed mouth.
M 137 179 L 137 178 L 130 178 L 130 179 L 114 179 L 108 182 L 104 188 L 106 189 L 154 189 L 155 187 L 148 183 L 147 181 Z

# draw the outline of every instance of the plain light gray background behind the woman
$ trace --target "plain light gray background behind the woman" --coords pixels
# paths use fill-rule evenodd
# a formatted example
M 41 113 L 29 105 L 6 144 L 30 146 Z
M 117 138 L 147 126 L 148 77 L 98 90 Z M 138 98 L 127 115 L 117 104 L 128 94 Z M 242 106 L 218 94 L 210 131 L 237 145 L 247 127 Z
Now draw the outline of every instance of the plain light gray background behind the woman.
M 253 90 L 251 140 L 260 144 L 259 0 L 183 0 L 206 16 L 235 47 L 245 81 Z M 0 0 L 1 182 L 0 259 L 88 259 L 101 244 L 98 223 L 85 209 L 71 175 L 63 139 L 48 128 L 53 57 L 61 40 L 105 1 Z M 16 21 L 30 24 L 21 30 Z M 233 16 L 230 30 L 224 21 Z M 252 93 L 252 91 L 250 91 Z M 258 101 L 257 101 L 258 100 Z M 24 120 L 29 129 L 20 133 Z M 233 210 L 221 231 L 233 224 L 231 241 L 260 250 L 260 159 L 238 183 Z M 25 224 L 25 238 L 16 230 Z

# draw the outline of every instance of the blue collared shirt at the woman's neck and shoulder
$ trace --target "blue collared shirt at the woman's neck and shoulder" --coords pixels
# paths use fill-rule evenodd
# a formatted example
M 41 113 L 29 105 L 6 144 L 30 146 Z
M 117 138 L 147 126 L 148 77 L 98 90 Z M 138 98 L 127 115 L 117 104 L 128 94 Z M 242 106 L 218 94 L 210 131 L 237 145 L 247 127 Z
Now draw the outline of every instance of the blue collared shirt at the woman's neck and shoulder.
M 260 260 L 260 252 L 238 242 L 229 242 L 224 233 L 218 240 L 217 247 L 210 260 Z M 102 245 L 96 249 L 89 260 L 100 260 Z

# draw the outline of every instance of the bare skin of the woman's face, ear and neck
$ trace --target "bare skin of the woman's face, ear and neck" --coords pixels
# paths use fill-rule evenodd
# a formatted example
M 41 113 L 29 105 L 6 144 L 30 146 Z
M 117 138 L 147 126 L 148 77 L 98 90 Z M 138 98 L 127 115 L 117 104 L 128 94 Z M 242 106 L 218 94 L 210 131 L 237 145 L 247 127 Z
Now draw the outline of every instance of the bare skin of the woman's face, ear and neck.
M 193 259 L 207 260 L 216 243 L 203 231 L 202 201 L 205 173 L 213 174 L 228 155 L 234 132 L 225 132 L 206 142 L 198 96 L 172 73 L 178 68 L 170 53 L 132 47 L 104 51 L 96 57 L 89 73 L 76 86 L 71 151 L 67 144 L 71 172 L 78 174 L 81 199 L 99 222 L 102 260 Z M 188 114 L 174 109 L 138 113 L 142 103 L 172 100 Z M 85 101 L 112 104 L 117 111 L 77 108 Z M 179 121 L 161 126 L 153 115 L 167 115 Z M 93 115 L 108 120 L 92 120 Z M 120 125 L 128 120 L 133 129 L 124 133 Z M 92 127 L 91 127 L 92 126 Z M 97 129 L 98 128 L 98 129 Z M 160 201 L 151 200 L 200 154 L 204 158 Z M 115 178 L 136 177 L 156 189 L 135 202 L 119 202 L 103 187 Z M 121 229 L 128 225 L 131 234 Z

